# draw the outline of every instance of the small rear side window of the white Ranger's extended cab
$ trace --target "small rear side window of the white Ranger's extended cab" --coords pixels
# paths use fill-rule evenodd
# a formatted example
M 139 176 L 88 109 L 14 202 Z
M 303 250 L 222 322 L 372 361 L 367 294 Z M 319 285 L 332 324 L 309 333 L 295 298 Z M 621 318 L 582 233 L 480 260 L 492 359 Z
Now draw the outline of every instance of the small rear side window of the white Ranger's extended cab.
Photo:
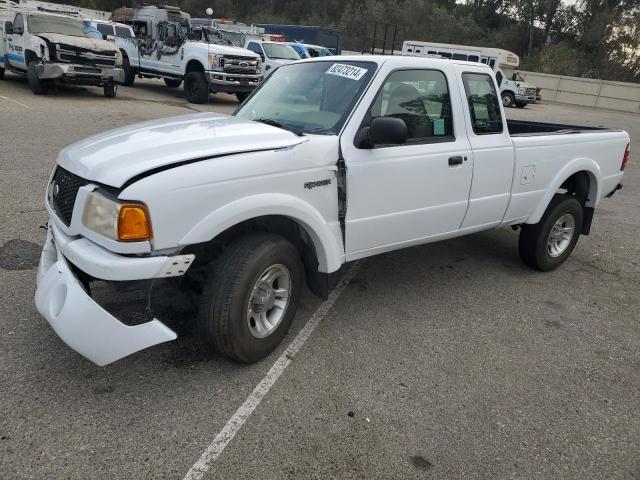
M 495 84 L 486 73 L 463 73 L 473 131 L 478 135 L 502 133 L 502 115 Z

